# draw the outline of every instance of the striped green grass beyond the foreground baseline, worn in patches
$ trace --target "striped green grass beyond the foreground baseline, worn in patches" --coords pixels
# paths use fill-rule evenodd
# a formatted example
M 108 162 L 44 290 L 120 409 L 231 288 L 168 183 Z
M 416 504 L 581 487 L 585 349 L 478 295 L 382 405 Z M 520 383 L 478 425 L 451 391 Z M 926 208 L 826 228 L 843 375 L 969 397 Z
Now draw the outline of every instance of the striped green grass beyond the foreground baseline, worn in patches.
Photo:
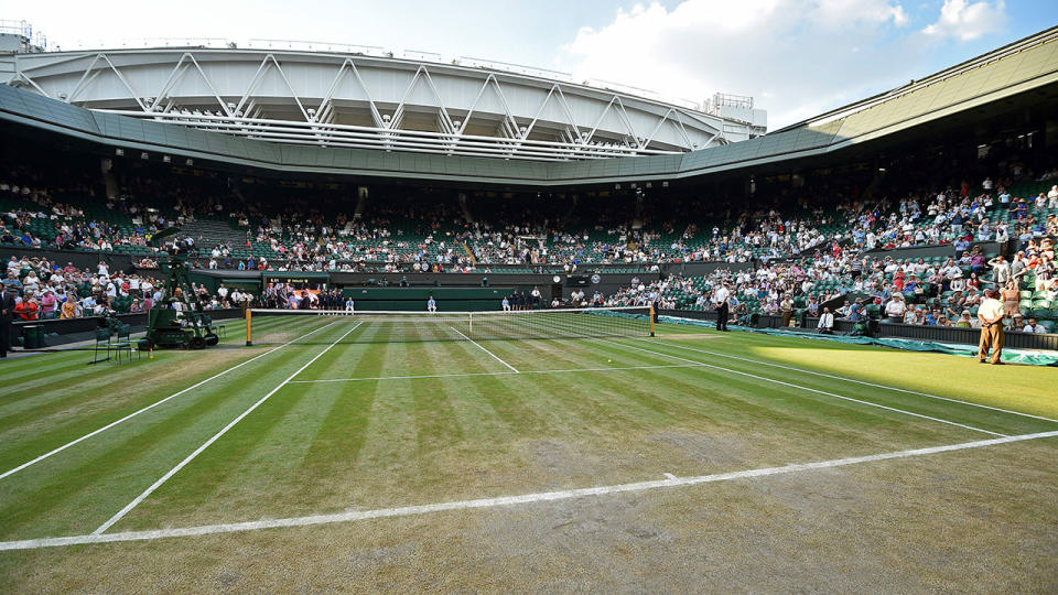
M 0 479 L 0 541 L 91 532 L 354 322 L 269 324 L 283 324 L 290 338 L 316 333 Z M 365 324 L 109 532 L 612 485 L 994 437 L 978 430 L 1058 430 L 1051 421 L 845 380 L 1058 419 L 1054 369 L 699 328 L 660 331 L 654 339 L 482 346 L 521 372 L 688 360 L 713 367 L 487 375 L 509 370 L 473 343 L 440 340 L 451 338 L 443 328 L 420 325 L 408 340 L 407 329 Z M 231 337 L 212 350 L 159 351 L 153 360 L 122 365 L 89 367 L 86 354 L 76 351 L 0 365 L 0 473 L 274 347 L 240 343 Z M 481 376 L 305 382 L 453 374 Z M 1033 448 L 1054 454 L 1054 439 L 1039 443 Z M 981 457 L 981 465 L 993 464 Z M 1039 480 L 1058 484 L 1052 472 Z M 193 549 L 194 539 L 180 547 Z M 26 561 L 51 564 L 58 556 L 77 567 L 106 548 L 0 553 L 0 575 L 15 577 L 0 584 L 26 586 L 24 569 L 34 567 Z M 53 586 L 75 588 L 71 580 Z

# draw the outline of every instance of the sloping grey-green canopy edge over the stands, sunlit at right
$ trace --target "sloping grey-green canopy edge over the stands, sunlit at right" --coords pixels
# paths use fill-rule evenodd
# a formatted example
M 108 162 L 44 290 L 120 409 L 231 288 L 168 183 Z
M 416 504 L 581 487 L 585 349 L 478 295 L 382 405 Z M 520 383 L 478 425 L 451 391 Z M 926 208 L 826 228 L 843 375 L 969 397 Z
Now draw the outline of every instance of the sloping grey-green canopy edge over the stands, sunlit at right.
M 589 162 L 517 162 L 279 145 L 94 112 L 8 86 L 0 86 L 0 119 L 152 156 L 219 160 L 289 172 L 527 186 L 678 180 L 838 151 L 1058 84 L 1056 42 L 1058 26 L 757 139 L 676 155 Z

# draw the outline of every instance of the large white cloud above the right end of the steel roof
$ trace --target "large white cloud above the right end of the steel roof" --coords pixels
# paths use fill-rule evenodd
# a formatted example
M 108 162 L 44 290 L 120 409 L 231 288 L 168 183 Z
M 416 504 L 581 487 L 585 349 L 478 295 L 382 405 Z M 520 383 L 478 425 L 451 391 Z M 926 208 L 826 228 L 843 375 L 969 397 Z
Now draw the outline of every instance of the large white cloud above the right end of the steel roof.
M 920 60 L 890 43 L 908 22 L 899 0 L 684 0 L 619 10 L 581 29 L 560 66 L 577 79 L 626 83 L 702 101 L 752 95 L 769 129 L 896 85 Z

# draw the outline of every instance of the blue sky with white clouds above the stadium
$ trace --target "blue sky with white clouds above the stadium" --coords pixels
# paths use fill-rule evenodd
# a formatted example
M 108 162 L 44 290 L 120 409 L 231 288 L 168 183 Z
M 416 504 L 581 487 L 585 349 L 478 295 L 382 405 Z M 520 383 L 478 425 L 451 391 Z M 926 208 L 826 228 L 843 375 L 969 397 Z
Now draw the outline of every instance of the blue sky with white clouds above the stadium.
M 15 9 L 15 12 L 9 12 Z M 1056 0 L 314 0 L 9 3 L 51 48 L 276 39 L 471 56 L 701 102 L 776 130 L 1058 24 Z

